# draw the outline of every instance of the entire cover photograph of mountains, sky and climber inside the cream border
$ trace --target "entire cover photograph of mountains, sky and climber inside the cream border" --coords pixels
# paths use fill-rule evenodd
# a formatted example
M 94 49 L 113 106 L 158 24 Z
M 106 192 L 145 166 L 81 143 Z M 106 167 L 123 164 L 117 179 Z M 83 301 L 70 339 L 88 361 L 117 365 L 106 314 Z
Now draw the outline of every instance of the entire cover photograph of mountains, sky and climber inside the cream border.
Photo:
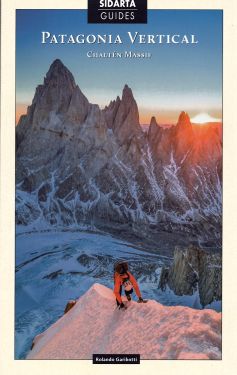
M 15 359 L 222 359 L 223 11 L 16 9 Z

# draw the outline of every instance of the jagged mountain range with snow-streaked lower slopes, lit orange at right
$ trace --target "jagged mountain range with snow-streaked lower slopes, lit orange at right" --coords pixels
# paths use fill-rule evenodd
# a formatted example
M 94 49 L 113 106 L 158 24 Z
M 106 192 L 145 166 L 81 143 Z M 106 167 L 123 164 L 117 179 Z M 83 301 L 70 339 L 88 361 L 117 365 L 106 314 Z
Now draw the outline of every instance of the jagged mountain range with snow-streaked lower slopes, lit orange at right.
M 125 85 L 101 110 L 60 60 L 16 127 L 18 225 L 150 226 L 221 241 L 222 143 L 216 127 L 182 112 L 165 129 L 139 124 Z

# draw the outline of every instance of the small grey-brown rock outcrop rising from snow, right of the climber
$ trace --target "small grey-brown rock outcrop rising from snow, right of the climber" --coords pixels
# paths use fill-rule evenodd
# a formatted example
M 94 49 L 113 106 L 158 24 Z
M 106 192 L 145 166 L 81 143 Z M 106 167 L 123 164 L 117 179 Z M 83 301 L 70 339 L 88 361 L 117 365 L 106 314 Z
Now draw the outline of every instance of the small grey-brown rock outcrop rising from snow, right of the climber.
M 206 306 L 222 299 L 222 265 L 218 253 L 208 253 L 195 246 L 176 248 L 170 268 L 163 268 L 159 288 L 168 285 L 175 294 L 192 295 L 199 291 L 200 302 Z

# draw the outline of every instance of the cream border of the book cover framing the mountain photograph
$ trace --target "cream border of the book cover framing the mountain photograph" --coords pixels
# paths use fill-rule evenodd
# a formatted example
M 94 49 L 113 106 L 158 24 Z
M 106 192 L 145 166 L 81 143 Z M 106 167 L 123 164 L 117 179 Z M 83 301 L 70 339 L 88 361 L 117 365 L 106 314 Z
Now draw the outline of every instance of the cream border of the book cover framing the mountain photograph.
M 234 375 L 237 371 L 236 285 L 237 190 L 237 1 L 149 0 L 155 9 L 224 10 L 224 241 L 223 359 L 221 361 L 162 360 L 140 365 L 92 365 L 91 361 L 14 360 L 14 194 L 15 194 L 15 9 L 87 8 L 84 0 L 2 0 L 1 55 L 1 200 L 0 200 L 0 371 L 1 374 L 44 375 L 177 373 Z M 234 334 L 235 333 L 235 334 Z M 122 367 L 121 367 L 122 366 Z M 124 366 L 127 366 L 124 368 Z

